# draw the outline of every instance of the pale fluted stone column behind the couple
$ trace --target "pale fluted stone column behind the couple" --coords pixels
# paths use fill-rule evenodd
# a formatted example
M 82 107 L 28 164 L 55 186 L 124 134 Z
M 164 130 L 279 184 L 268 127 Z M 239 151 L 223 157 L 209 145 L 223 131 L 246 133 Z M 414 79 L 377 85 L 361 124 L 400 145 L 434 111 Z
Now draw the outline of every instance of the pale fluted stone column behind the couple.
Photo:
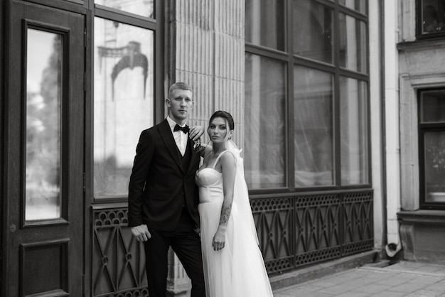
M 166 94 L 173 82 L 193 88 L 189 125 L 208 127 L 217 110 L 235 120 L 235 143 L 244 139 L 245 71 L 244 0 L 166 1 Z M 205 134 L 204 142 L 208 141 Z M 168 291 L 184 296 L 188 277 L 178 258 L 169 255 Z

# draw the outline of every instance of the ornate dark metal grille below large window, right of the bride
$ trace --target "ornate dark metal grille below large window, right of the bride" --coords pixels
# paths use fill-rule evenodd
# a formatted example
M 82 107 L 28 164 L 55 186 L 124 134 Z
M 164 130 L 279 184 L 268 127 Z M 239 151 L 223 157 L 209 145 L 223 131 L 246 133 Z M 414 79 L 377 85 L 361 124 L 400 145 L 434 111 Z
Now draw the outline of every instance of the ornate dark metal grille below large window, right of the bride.
M 266 269 L 274 274 L 372 249 L 372 190 L 254 198 Z

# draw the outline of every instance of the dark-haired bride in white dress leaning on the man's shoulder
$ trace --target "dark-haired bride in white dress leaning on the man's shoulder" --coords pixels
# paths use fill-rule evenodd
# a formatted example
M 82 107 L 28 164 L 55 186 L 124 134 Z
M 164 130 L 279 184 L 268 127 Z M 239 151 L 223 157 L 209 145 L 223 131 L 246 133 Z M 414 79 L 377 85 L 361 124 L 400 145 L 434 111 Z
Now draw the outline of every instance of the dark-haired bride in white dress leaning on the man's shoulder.
M 250 209 L 240 150 L 230 140 L 234 122 L 223 111 L 210 117 L 212 141 L 196 172 L 207 297 L 272 295 Z

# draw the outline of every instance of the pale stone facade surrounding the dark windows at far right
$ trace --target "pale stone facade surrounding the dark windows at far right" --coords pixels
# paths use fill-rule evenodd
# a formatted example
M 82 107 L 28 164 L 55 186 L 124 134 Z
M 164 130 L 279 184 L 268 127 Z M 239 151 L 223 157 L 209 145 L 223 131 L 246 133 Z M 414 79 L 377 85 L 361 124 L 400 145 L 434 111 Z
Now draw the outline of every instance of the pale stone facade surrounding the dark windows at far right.
M 415 1 L 399 3 L 400 238 L 404 258 L 444 261 L 445 211 L 419 210 L 418 90 L 445 87 L 445 40 L 417 41 Z M 440 61 L 440 62 L 438 62 Z M 387 66 L 388 67 L 388 66 Z

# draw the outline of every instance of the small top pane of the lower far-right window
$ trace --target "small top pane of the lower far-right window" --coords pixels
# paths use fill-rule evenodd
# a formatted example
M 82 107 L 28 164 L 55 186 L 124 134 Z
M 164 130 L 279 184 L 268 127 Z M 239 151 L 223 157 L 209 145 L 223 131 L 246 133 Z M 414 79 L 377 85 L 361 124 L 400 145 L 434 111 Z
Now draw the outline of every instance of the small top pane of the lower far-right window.
M 445 122 L 445 90 L 422 92 L 421 121 Z

